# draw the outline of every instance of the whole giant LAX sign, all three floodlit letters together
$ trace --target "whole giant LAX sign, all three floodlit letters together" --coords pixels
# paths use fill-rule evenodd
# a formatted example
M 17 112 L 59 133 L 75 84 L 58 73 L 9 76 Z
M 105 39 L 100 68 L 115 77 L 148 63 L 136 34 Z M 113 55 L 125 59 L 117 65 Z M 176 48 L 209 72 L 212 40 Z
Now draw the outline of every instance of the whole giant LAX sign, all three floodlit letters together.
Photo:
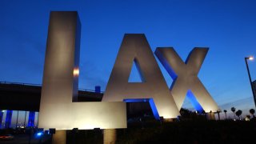
M 197 76 L 208 48 L 195 48 L 186 62 L 173 48 L 157 48 L 155 55 L 174 78 L 169 89 L 144 34 L 125 34 L 102 102 L 76 102 L 81 31 L 77 12 L 51 12 L 48 29 L 38 127 L 126 128 L 126 102 L 148 101 L 155 118 L 177 118 L 186 95 L 196 110 L 218 110 Z M 128 82 L 133 62 L 142 82 Z

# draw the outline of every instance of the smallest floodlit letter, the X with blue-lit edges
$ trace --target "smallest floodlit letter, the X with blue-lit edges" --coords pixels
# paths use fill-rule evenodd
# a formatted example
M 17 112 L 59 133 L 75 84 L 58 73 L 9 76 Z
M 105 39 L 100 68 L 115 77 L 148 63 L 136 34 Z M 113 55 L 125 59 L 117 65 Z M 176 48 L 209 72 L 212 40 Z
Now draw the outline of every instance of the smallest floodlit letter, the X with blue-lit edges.
M 196 110 L 203 109 L 206 112 L 218 110 L 216 102 L 198 78 L 207 51 L 208 48 L 194 48 L 184 63 L 173 48 L 155 50 L 159 61 L 174 79 L 170 91 L 179 110 L 186 95 Z

